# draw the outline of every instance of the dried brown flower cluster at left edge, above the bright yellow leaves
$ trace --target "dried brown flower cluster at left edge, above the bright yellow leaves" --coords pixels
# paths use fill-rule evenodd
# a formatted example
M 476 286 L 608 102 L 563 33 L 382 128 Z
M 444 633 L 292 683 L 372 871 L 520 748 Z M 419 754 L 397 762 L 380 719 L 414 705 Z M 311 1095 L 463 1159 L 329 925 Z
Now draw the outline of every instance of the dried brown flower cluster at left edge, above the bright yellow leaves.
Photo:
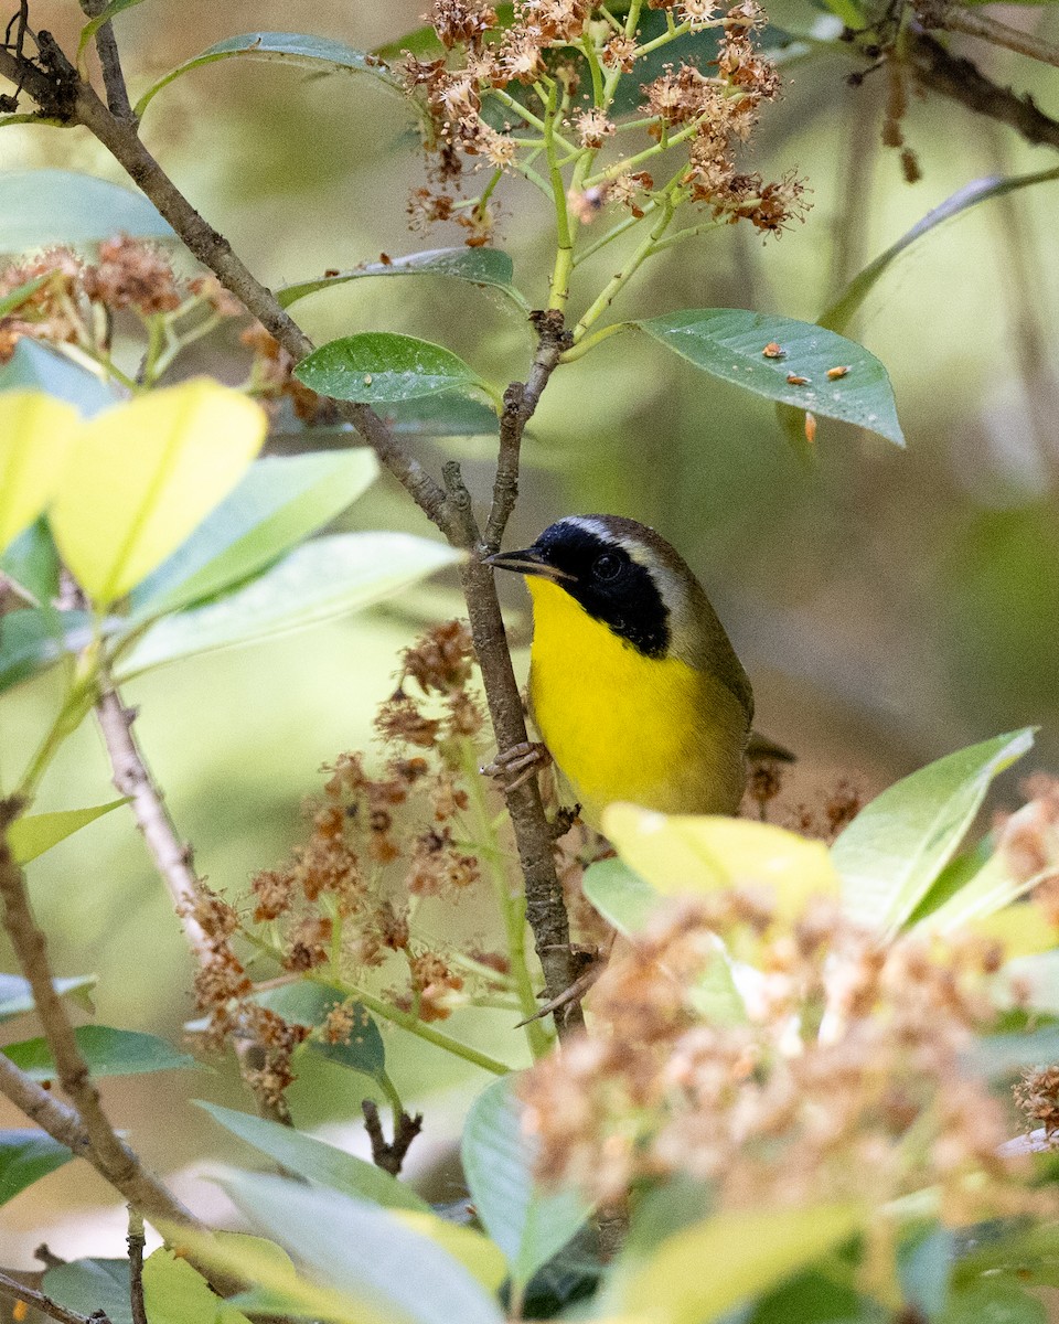
M 106 348 L 111 315 L 123 310 L 150 318 L 176 312 L 191 298 L 221 316 L 244 311 L 213 277 L 183 283 L 160 248 L 126 234 L 105 240 L 95 262 L 52 248 L 0 271 L 0 299 L 23 287 L 25 295 L 0 318 L 0 361 L 23 336 L 90 352 Z

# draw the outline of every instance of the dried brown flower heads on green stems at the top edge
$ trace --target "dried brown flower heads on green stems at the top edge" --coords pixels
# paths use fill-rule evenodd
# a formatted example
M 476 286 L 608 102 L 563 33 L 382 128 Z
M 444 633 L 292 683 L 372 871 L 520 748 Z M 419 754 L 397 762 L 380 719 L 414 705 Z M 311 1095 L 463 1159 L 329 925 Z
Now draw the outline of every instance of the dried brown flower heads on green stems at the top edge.
M 735 160 L 761 105 L 780 93 L 780 75 L 755 42 L 756 30 L 765 24 L 764 12 L 756 0 L 740 0 L 720 13 L 707 0 L 657 0 L 651 8 L 671 11 L 675 23 L 686 25 L 679 30 L 694 33 L 708 26 L 720 34 L 715 57 L 703 61 L 703 68 L 696 61 L 679 61 L 642 86 L 641 114 L 650 120 L 646 132 L 659 148 L 675 134 L 688 154 L 683 197 L 708 205 L 716 217 L 745 217 L 761 230 L 782 229 L 801 214 L 802 184 L 793 175 L 765 183 L 760 175 L 740 172 Z M 539 155 L 532 138 L 541 117 L 553 117 L 560 139 L 568 135 L 582 150 L 600 151 L 617 128 L 613 95 L 592 85 L 584 42 L 596 44 L 605 73 L 634 78 L 639 33 L 605 25 L 604 16 L 584 0 L 516 0 L 510 23 L 500 23 L 494 8 L 481 0 L 434 0 L 425 17 L 445 56 L 408 56 L 404 74 L 424 106 L 434 187 L 417 189 L 409 212 L 413 228 L 451 220 L 467 229 L 466 242 L 477 245 L 487 241 L 491 217 L 484 205 L 458 201 L 455 181 L 465 159 L 475 167 L 487 163 L 500 171 L 522 171 L 520 152 L 530 148 L 533 158 Z M 545 86 L 552 89 L 549 94 Z M 549 95 L 557 105 L 549 105 Z M 573 187 L 569 208 L 582 224 L 606 204 L 639 216 L 653 189 L 650 173 L 633 166 L 622 169 L 618 159 L 596 183 Z

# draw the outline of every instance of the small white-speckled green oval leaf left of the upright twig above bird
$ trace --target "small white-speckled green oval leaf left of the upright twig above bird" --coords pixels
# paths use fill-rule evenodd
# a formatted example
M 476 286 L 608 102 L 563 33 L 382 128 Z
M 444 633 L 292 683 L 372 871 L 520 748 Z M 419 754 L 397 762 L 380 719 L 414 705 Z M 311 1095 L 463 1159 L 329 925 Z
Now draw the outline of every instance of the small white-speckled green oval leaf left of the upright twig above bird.
M 372 405 L 439 391 L 484 389 L 478 373 L 451 350 L 392 331 L 330 340 L 302 359 L 294 376 L 322 396 Z

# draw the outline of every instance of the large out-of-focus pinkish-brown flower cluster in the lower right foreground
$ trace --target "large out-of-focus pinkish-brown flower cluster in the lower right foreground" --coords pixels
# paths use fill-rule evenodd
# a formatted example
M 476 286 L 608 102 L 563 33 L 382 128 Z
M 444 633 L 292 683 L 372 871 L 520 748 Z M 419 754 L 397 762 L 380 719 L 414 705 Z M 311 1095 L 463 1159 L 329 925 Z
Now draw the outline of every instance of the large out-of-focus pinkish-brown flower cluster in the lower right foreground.
M 702 1014 L 721 941 L 755 951 L 745 1019 Z M 541 1174 L 602 1200 L 686 1173 L 719 1207 L 878 1207 L 928 1186 L 943 1217 L 1022 1207 L 997 1155 L 1010 1120 L 964 1059 L 999 960 L 977 939 L 883 951 L 823 902 L 789 929 L 745 892 L 674 904 L 612 960 L 593 1037 L 526 1079 Z

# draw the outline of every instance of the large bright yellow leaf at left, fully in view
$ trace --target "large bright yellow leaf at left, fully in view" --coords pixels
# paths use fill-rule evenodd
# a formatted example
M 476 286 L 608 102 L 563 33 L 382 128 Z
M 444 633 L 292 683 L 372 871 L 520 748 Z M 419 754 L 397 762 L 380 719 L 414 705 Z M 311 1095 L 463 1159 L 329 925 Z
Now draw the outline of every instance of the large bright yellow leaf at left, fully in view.
M 220 504 L 266 426 L 259 405 L 207 377 L 115 405 L 86 425 L 50 522 L 98 606 L 139 584 Z

